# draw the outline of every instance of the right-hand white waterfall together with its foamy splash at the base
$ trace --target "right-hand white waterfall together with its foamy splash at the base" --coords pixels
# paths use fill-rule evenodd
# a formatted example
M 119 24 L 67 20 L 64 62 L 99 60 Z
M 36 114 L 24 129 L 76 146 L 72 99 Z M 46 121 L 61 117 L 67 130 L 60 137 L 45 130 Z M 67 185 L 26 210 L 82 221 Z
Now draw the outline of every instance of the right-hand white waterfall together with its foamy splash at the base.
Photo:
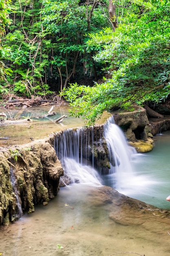
M 130 197 L 154 194 L 154 186 L 159 181 L 148 173 L 141 175 L 136 172 L 134 162 L 140 161 L 141 154 L 137 154 L 134 148 L 128 146 L 124 133 L 114 124 L 113 118 L 106 123 L 104 137 L 110 158 L 115 159 L 115 166 L 111 165 L 110 174 L 104 177 L 105 184 Z

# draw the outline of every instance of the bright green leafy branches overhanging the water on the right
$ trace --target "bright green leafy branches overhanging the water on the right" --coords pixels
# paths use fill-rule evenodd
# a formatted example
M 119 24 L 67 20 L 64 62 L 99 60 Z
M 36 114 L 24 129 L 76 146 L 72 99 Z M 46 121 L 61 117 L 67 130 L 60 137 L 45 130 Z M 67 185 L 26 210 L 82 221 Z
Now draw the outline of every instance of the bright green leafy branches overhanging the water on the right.
M 170 94 L 170 1 L 131 0 L 124 7 L 115 32 L 90 33 L 86 42 L 102 47 L 94 60 L 106 65 L 108 78 L 93 88 L 72 84 L 63 93 L 71 114 L 84 117 L 88 125 L 104 110 L 158 103 Z

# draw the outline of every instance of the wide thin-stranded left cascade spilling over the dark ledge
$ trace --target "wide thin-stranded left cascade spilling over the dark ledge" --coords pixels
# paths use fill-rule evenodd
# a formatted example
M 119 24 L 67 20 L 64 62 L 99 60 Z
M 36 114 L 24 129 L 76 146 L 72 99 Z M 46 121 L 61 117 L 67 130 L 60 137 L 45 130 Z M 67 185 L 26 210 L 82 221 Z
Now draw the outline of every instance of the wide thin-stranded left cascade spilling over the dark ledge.
M 55 151 L 64 173 L 72 183 L 101 185 L 102 180 L 94 168 L 93 139 L 93 127 L 78 128 L 77 130 L 67 129 L 57 135 Z M 90 164 L 89 157 L 92 158 L 92 164 Z

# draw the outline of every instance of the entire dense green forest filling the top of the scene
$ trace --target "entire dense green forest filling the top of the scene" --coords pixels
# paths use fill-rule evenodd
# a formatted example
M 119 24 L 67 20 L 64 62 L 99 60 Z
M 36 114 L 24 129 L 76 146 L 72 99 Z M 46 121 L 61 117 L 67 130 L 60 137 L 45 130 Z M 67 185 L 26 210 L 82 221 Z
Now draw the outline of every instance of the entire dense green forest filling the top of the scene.
M 0 94 L 59 94 L 93 124 L 170 94 L 169 0 L 0 0 Z

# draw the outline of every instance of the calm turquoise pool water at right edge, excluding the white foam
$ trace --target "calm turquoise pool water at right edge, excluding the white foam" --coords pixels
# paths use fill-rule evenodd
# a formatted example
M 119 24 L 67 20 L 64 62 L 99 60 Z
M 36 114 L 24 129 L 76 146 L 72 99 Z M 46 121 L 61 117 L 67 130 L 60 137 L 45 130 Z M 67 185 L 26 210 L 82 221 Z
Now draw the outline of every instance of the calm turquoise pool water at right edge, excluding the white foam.
M 170 209 L 166 201 L 170 195 L 170 131 L 155 136 L 154 148 L 146 154 L 139 154 L 132 162 L 136 175 L 144 175 L 148 180 L 145 193 L 135 193 L 135 197 L 156 207 Z

